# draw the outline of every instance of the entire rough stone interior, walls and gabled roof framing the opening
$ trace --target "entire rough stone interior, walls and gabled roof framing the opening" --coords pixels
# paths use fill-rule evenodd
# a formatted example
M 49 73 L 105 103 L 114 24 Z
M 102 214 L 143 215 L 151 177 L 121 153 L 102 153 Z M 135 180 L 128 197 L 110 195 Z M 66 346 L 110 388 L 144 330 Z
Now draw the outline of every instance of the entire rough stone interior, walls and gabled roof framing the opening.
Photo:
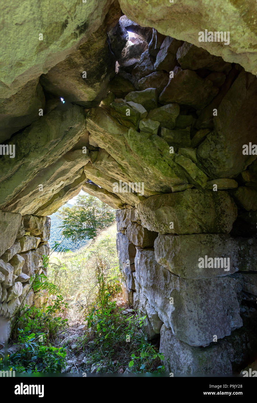
M 1 65 L 0 315 L 11 323 L 41 270 L 46 216 L 83 189 L 117 209 L 123 297 L 161 338 L 166 369 L 232 373 L 257 352 L 253 5 L 222 0 L 210 15 L 206 1 L 141 3 L 58 4 L 40 26 L 35 4 L 29 18 L 14 7 L 12 67 Z M 230 21 L 230 44 L 200 47 L 199 15 L 213 30 Z M 34 26 L 44 39 L 28 44 L 20 30 Z

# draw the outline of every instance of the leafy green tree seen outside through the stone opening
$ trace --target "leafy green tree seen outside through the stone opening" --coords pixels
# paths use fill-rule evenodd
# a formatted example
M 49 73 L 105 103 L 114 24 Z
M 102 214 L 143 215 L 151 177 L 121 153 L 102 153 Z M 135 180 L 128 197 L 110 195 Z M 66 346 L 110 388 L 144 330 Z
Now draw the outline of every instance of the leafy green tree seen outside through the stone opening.
M 76 204 L 61 211 L 62 234 L 73 242 L 92 239 L 99 229 L 106 228 L 115 220 L 115 210 L 97 197 L 79 195 Z

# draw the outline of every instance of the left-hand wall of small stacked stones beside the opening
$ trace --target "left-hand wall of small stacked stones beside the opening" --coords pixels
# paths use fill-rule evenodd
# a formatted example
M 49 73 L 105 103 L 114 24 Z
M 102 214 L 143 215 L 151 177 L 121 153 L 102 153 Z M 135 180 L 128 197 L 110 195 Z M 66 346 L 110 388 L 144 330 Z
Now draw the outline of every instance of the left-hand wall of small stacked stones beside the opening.
M 9 337 L 19 307 L 42 302 L 42 295 L 29 288 L 36 274 L 46 275 L 42 264 L 43 255 L 49 255 L 50 218 L 0 211 L 0 232 L 0 320 Z

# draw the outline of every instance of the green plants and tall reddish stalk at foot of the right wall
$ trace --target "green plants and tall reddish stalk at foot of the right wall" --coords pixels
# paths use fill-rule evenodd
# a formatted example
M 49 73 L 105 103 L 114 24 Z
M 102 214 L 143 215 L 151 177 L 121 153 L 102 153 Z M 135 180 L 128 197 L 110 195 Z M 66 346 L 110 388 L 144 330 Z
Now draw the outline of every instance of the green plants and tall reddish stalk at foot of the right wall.
M 113 279 L 108 280 L 104 273 L 104 264 L 98 260 L 98 293 L 95 303 L 85 310 L 89 339 L 94 341 L 91 355 L 97 363 L 96 372 L 103 369 L 117 372 L 124 366 L 130 372 L 164 372 L 164 366 L 158 366 L 163 355 L 147 341 L 142 331 L 146 316 L 141 317 L 136 312 L 124 315 L 124 307 L 118 307 L 113 300 L 121 292 L 120 285 Z

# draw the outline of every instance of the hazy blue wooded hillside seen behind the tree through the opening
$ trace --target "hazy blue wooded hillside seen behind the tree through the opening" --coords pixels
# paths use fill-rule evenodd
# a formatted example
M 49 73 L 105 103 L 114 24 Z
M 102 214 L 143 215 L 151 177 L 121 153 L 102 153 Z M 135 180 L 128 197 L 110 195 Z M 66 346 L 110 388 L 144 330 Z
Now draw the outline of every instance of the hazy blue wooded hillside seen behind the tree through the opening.
M 53 213 L 50 216 L 51 217 L 51 231 L 49 239 L 50 249 L 54 247 L 54 241 L 60 243 L 63 240 L 63 235 L 61 234 L 62 229 L 60 228 L 63 222 L 58 218 L 58 216 L 64 207 L 71 208 L 73 207 L 73 205 L 66 203 L 62 207 L 60 207 L 59 210 L 56 211 L 56 213 Z M 82 246 L 86 245 L 87 242 L 88 241 L 86 239 L 82 241 L 77 241 L 76 243 L 72 242 L 71 239 L 65 239 L 61 247 L 64 249 L 70 249 L 71 251 L 74 252 L 77 249 L 80 249 Z

